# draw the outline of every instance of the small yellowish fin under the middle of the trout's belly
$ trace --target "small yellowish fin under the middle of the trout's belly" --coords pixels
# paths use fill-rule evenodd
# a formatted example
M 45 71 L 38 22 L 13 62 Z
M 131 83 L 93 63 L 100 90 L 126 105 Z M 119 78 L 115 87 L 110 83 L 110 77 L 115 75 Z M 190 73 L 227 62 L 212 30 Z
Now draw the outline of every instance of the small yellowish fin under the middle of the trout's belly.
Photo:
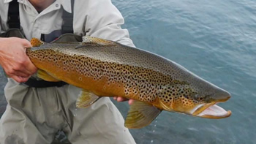
M 99 99 L 99 96 L 93 94 L 91 91 L 86 91 L 85 89 L 83 89 L 80 93 L 80 96 L 78 97 L 76 106 L 80 108 L 89 107 Z

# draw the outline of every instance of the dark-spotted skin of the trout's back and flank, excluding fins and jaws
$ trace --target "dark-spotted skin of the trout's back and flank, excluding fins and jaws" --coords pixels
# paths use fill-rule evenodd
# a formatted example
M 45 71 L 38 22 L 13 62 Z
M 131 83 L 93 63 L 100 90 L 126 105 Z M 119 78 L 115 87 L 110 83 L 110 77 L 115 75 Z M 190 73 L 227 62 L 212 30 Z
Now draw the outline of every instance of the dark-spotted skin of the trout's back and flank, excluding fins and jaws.
M 65 72 L 75 71 L 94 80 L 107 77 L 106 86 L 117 84 L 124 88 L 125 97 L 143 102 L 159 99 L 165 105 L 194 107 L 203 102 L 206 93 L 214 91 L 206 81 L 173 61 L 115 42 L 44 44 L 27 50 L 27 54 Z

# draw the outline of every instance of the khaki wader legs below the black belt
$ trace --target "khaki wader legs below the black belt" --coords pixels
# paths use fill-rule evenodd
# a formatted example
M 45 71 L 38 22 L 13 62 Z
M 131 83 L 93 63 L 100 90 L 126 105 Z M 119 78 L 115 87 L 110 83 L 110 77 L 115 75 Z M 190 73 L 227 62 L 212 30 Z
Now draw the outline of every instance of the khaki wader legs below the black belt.
M 0 119 L 1 144 L 51 143 L 60 129 L 71 143 L 135 143 L 109 98 L 80 109 L 80 88 L 30 88 L 10 79 L 4 88 L 7 110 Z

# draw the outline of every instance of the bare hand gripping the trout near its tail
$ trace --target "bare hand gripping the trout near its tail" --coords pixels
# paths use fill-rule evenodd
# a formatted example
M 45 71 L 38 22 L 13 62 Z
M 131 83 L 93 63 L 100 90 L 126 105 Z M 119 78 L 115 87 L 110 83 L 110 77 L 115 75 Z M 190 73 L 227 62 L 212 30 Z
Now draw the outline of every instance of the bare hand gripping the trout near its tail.
M 26 82 L 31 75 L 37 72 L 37 67 L 26 55 L 26 48 L 31 47 L 26 39 L 0 38 L 0 65 L 4 72 L 18 83 Z

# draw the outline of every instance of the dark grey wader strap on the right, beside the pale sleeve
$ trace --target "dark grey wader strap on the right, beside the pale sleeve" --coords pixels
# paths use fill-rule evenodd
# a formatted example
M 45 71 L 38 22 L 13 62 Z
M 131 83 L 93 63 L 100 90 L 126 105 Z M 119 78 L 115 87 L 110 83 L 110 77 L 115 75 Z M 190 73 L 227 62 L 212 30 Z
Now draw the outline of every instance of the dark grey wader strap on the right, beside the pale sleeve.
M 73 30 L 73 17 L 74 17 L 74 2 L 75 0 L 71 0 L 71 12 L 69 13 L 66 10 L 63 9 L 63 13 L 62 13 L 62 26 L 61 26 L 61 34 L 67 34 L 67 33 L 74 33 Z

